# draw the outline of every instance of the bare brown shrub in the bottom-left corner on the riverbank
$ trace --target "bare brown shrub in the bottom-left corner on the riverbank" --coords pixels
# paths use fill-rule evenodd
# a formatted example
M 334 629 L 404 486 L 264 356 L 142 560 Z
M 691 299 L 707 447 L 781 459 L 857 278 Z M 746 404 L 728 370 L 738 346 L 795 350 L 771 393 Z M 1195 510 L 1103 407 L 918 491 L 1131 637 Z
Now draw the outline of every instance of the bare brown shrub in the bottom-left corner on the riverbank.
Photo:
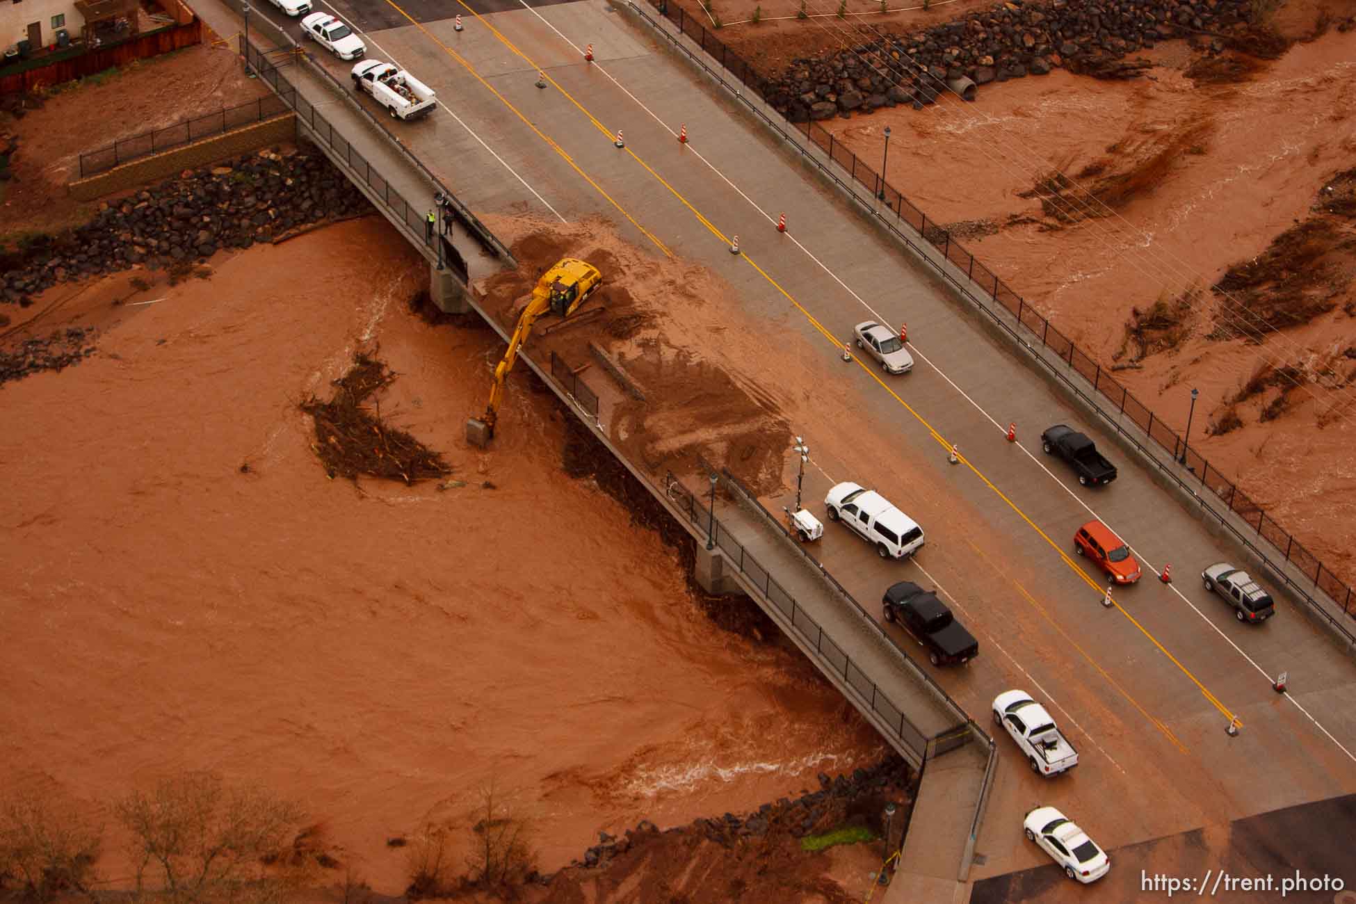
M 0 802 L 0 886 L 16 886 L 38 901 L 66 890 L 88 892 L 100 835 L 100 827 L 62 794 L 34 787 L 15 793 Z

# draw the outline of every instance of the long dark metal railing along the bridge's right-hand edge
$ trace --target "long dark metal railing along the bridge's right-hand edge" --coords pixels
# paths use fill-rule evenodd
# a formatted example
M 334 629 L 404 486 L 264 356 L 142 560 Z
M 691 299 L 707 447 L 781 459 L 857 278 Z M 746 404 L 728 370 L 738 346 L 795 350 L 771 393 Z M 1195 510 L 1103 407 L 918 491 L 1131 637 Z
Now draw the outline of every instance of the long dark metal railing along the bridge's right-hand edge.
M 678 7 L 669 5 L 666 0 L 650 0 L 650 5 L 656 12 L 673 22 L 682 35 L 686 35 L 701 46 L 702 52 L 711 57 L 715 68 L 689 50 L 678 35 L 659 27 L 659 24 L 644 9 L 641 9 L 640 5 L 637 5 L 636 0 L 625 0 L 625 5 L 637 16 L 648 22 L 656 33 L 664 35 L 674 49 L 686 54 L 694 65 L 704 69 L 723 87 L 731 89 L 735 98 L 739 99 L 754 115 L 762 119 L 767 127 L 778 133 L 788 141 L 788 144 L 795 146 L 807 161 L 812 163 L 819 169 L 822 175 L 848 191 L 852 198 L 862 205 L 869 215 L 875 215 L 885 229 L 903 241 L 907 248 L 915 251 L 944 279 L 952 283 L 952 286 L 955 286 L 961 295 L 987 313 L 990 319 L 1012 335 L 1013 339 L 1022 346 L 1032 348 L 1035 352 L 1036 350 L 1026 342 L 1026 336 L 1032 340 L 1039 337 L 1041 350 L 1052 352 L 1056 361 L 1064 365 L 1069 371 L 1081 377 L 1090 386 L 1092 392 L 1083 392 L 1083 389 L 1070 378 L 1069 373 L 1055 367 L 1045 355 L 1036 354 L 1036 361 L 1044 365 L 1051 374 L 1063 381 L 1075 396 L 1097 411 L 1121 436 L 1128 439 L 1136 449 L 1154 461 L 1163 474 L 1169 476 L 1181 489 L 1196 499 L 1203 511 L 1218 519 L 1223 527 L 1226 527 L 1246 549 L 1252 550 L 1253 554 L 1256 554 L 1269 568 L 1269 571 L 1272 571 L 1277 580 L 1290 587 L 1290 590 L 1296 596 L 1303 599 L 1314 613 L 1326 619 L 1334 630 L 1342 634 L 1348 644 L 1356 645 L 1356 633 L 1329 613 L 1322 602 L 1315 599 L 1310 592 L 1310 590 L 1321 591 L 1330 600 L 1333 600 L 1334 607 L 1341 607 L 1345 617 L 1356 618 L 1356 599 L 1353 599 L 1352 588 L 1336 573 L 1323 568 L 1317 556 L 1310 553 L 1303 543 L 1296 542 L 1294 535 L 1281 529 L 1273 519 L 1268 518 L 1261 506 L 1249 499 L 1243 491 L 1227 480 L 1219 470 L 1214 469 L 1195 449 L 1186 447 L 1176 431 L 1159 420 L 1157 415 L 1154 415 L 1154 412 L 1151 412 L 1138 398 L 1131 396 L 1130 390 L 1125 386 L 1121 386 L 1108 371 L 1104 371 L 1097 362 L 1079 351 L 1078 347 L 1074 346 L 1067 336 L 1059 332 L 1059 329 L 1055 328 L 1047 317 L 1040 314 L 1040 312 L 1035 308 L 1026 305 L 1026 302 L 1017 295 L 1017 293 L 1003 285 L 1003 282 L 993 271 L 976 260 L 974 255 L 960 245 L 960 243 L 952 241 L 951 233 L 948 233 L 941 225 L 929 222 L 928 217 L 921 210 L 910 203 L 909 199 L 904 198 L 898 190 L 892 188 L 880 175 L 876 173 L 875 169 L 861 163 L 856 155 L 843 148 L 841 144 L 837 144 L 833 134 L 830 134 L 826 129 L 814 122 L 795 123 L 781 114 L 777 114 L 778 119 L 774 121 L 763 112 L 763 110 L 751 103 L 749 98 L 744 96 L 743 89 L 747 88 L 759 100 L 766 103 L 766 99 L 762 95 L 762 85 L 765 80 L 743 58 L 711 35 L 705 26 L 694 18 L 687 16 Z M 727 81 L 725 73 L 731 76 L 730 81 Z M 772 107 L 769 107 L 769 110 L 770 108 Z M 846 171 L 848 182 L 839 179 L 838 173 L 819 160 L 819 157 L 815 156 L 810 148 L 799 141 L 792 141 L 791 136 L 781 127 L 780 123 L 791 126 L 793 131 L 803 134 L 810 144 L 814 145 L 814 148 L 824 152 L 831 163 L 838 164 L 838 167 Z M 871 191 L 871 201 L 866 201 L 857 192 L 856 186 L 858 184 Z M 894 221 L 887 218 L 883 211 L 892 213 Z M 906 234 L 900 229 L 900 225 L 906 226 L 911 234 Z M 915 243 L 914 239 L 917 239 L 921 244 Z M 938 263 L 933 255 L 940 255 L 941 262 Z M 946 267 L 945 264 L 951 266 Z M 971 286 L 974 286 L 979 294 L 971 291 Z M 1012 316 L 1014 323 L 1009 324 L 1003 317 L 1001 317 L 994 306 L 986 304 L 984 297 L 994 302 L 1001 310 Z M 1105 407 L 1102 401 L 1111 403 L 1109 408 Z M 1189 478 L 1184 478 L 1180 473 L 1177 473 L 1176 466 L 1165 465 L 1151 449 L 1146 447 L 1144 443 L 1142 443 L 1125 428 L 1125 426 L 1120 422 L 1123 417 L 1128 417 L 1130 422 L 1139 428 L 1149 440 L 1157 445 L 1162 451 L 1169 453 L 1174 462 L 1178 458 L 1185 458 L 1186 473 L 1192 476 Z M 1210 489 L 1211 493 L 1223 503 L 1224 511 L 1216 510 L 1205 501 L 1205 497 L 1201 496 L 1201 493 L 1196 492 L 1197 481 L 1203 488 Z M 1256 518 L 1257 523 L 1252 531 L 1252 537 L 1246 535 L 1245 531 L 1230 523 L 1230 514 L 1238 516 L 1249 527 L 1254 527 L 1252 519 Z M 1276 553 L 1280 553 L 1279 558 L 1281 561 L 1275 561 L 1271 554 L 1253 542 L 1256 538 L 1267 541 L 1267 543 Z M 1306 580 L 1304 584 L 1296 581 L 1287 573 L 1284 568 L 1285 564 L 1294 565 L 1306 576 L 1313 572 L 1313 579 Z

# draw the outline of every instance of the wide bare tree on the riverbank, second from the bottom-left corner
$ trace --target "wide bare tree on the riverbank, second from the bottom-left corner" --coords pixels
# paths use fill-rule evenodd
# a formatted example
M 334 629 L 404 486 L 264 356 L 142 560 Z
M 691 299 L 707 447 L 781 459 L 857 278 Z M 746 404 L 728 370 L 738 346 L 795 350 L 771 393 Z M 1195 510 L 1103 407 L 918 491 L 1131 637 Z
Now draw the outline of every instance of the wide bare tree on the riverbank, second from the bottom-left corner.
M 214 773 L 183 773 L 151 792 L 133 792 L 117 804 L 132 832 L 137 892 L 146 869 L 159 876 L 174 901 L 221 895 L 268 901 L 281 884 L 262 865 L 294 831 L 301 812 L 290 801 L 258 787 L 226 787 Z

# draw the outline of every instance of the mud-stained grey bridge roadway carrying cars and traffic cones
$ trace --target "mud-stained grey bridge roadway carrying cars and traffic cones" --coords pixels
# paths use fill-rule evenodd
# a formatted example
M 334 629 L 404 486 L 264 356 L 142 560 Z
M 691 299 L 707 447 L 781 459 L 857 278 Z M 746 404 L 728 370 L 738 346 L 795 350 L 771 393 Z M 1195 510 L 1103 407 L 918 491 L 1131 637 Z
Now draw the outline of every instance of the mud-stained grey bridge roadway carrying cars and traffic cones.
M 810 397 L 782 400 L 797 407 L 795 430 L 814 449 L 805 497 L 822 500 L 831 481 L 856 480 L 929 534 L 915 561 L 883 562 L 827 525 L 816 556 L 868 607 L 895 580 L 937 585 L 982 648 L 975 664 L 936 672 L 948 691 L 984 718 L 995 694 L 1022 687 L 1078 745 L 1075 774 L 1047 782 L 998 737 L 976 876 L 1041 863 L 1020 832 L 1036 802 L 1124 847 L 1356 792 L 1352 660 L 1285 600 L 1267 625 L 1238 625 L 1199 580 L 1233 552 L 926 271 L 766 133 L 732 117 L 724 96 L 598 0 L 518 4 L 483 20 L 460 3 L 445 4 L 438 20 L 430 7 L 401 8 L 410 18 L 389 0 L 338 11 L 367 31 L 370 57 L 411 69 L 445 104 L 427 121 L 396 125 L 415 153 L 477 213 L 601 214 L 637 245 L 690 259 L 734 286 L 743 313 L 767 324 L 769 342 L 795 366 L 826 374 Z M 458 9 L 464 33 L 452 28 Z M 594 65 L 580 58 L 586 43 Z M 348 64 L 327 65 L 346 77 Z M 545 89 L 534 84 L 538 70 L 549 76 Z M 682 123 L 686 146 L 674 140 Z M 625 150 L 610 141 L 617 129 Z M 785 236 L 772 228 L 782 211 Z M 731 234 L 742 256 L 728 253 Z M 914 373 L 884 378 L 838 362 L 823 331 L 842 342 L 866 319 L 907 321 Z M 777 398 L 776 375 L 757 377 Z M 1002 439 L 1009 422 L 1018 424 L 1016 445 Z M 1120 478 L 1079 488 L 1040 454 L 1037 435 L 1052 423 L 1088 430 Z M 959 443 L 964 464 L 946 464 L 937 436 Z M 784 500 L 767 501 L 777 511 Z M 810 508 L 823 512 L 819 501 Z M 1146 573 L 1104 609 L 1101 577 L 1071 552 L 1074 531 L 1092 518 L 1120 533 L 1146 572 L 1170 562 L 1176 583 Z M 1271 686 L 1280 671 L 1291 676 L 1288 697 Z M 1223 731 L 1230 716 L 1242 720 L 1238 737 Z M 1349 809 L 1330 817 L 1338 834 L 1356 829 Z

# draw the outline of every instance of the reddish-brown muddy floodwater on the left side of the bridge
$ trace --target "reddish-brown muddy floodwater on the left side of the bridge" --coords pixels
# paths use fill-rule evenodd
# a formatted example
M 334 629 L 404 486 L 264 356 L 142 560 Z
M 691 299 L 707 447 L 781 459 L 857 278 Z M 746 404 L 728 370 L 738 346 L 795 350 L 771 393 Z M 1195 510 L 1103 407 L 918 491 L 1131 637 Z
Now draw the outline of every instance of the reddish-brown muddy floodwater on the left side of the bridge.
M 396 893 L 386 839 L 450 820 L 460 866 L 491 778 L 555 870 L 599 831 L 747 812 L 883 754 L 799 655 L 713 625 L 675 549 L 563 472 L 561 413 L 526 369 L 494 449 L 465 446 L 502 343 L 408 312 L 426 264 L 384 222 L 212 263 L 27 309 L 96 325 L 98 351 L 0 388 L 0 632 L 23 638 L 7 777 L 100 802 L 180 768 L 258 781 Z M 397 374 L 381 416 L 447 480 L 327 478 L 297 404 L 359 350 Z M 746 431 L 778 423 L 755 409 Z M 103 821 L 104 874 L 127 877 Z M 869 859 L 820 863 L 864 886 Z

